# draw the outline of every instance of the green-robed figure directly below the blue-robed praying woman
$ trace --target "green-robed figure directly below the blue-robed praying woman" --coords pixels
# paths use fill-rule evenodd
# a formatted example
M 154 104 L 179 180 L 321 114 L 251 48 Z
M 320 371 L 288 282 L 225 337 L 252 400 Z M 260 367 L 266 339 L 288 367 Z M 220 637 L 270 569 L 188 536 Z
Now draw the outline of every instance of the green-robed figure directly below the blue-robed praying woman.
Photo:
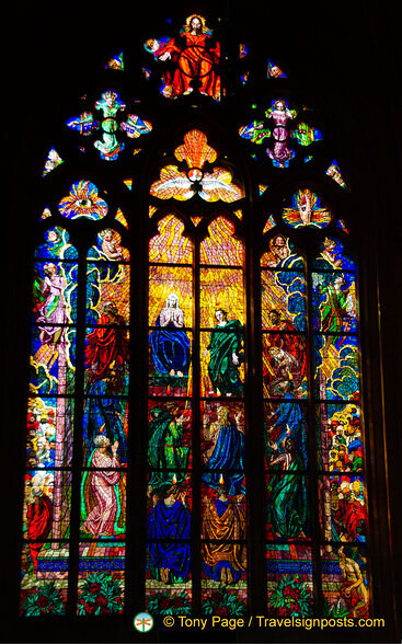
M 180 470 L 187 467 L 188 447 L 182 446 L 185 418 L 179 412 L 179 405 L 173 402 L 165 403 L 164 409 L 153 407 L 150 412 L 148 465 L 153 471 L 148 484 L 157 491 L 168 483 L 171 485 L 172 472 L 179 483 L 185 478 L 185 472 L 181 474 Z

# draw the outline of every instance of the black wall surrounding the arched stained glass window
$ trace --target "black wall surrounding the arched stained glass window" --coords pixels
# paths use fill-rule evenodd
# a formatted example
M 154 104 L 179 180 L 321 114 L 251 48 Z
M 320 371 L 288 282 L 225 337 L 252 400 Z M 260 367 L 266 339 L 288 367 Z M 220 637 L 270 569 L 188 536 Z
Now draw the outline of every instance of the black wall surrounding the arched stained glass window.
M 111 54 L 159 34 L 157 16 L 220 12 L 239 42 L 255 44 L 297 79 L 300 91 L 325 111 L 336 159 L 353 192 L 352 226 L 359 231 L 360 300 L 375 616 L 387 629 L 360 637 L 399 642 L 401 618 L 401 34 L 393 2 L 204 3 L 83 2 L 11 4 L 2 20 L 1 176 L 3 181 L 1 359 L 1 599 L 4 641 L 130 641 L 131 631 L 84 625 L 30 624 L 15 619 L 19 586 L 25 387 L 28 352 L 32 231 L 38 219 L 41 175 L 56 145 L 66 105 L 78 99 Z M 159 23 L 158 23 L 159 24 Z M 228 26 L 228 25 L 227 25 Z M 134 90 L 135 91 L 135 90 Z M 71 114 L 73 115 L 73 112 Z M 57 149 L 57 145 L 56 145 Z M 53 623 L 51 620 L 48 622 Z M 306 641 L 314 635 L 300 632 Z M 348 641 L 328 634 L 328 640 Z M 289 635 L 290 637 L 290 635 Z M 317 635 L 318 641 L 320 636 Z M 322 637 L 322 635 L 321 635 Z M 366 640 L 365 640 L 366 637 Z M 310 640 L 309 640 L 310 639 Z M 152 641 L 152 640 L 148 640 Z M 194 640 L 195 641 L 195 640 Z

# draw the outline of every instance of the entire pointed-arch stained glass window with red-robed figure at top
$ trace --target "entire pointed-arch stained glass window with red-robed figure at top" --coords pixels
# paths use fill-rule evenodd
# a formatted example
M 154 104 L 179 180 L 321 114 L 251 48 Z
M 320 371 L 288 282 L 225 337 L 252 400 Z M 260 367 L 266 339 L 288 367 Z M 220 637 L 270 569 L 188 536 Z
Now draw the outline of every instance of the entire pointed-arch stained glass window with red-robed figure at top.
M 230 81 L 218 23 L 148 34 L 143 97 L 111 53 L 41 170 L 26 617 L 371 609 L 349 185 L 286 66 L 257 92 L 239 44 Z

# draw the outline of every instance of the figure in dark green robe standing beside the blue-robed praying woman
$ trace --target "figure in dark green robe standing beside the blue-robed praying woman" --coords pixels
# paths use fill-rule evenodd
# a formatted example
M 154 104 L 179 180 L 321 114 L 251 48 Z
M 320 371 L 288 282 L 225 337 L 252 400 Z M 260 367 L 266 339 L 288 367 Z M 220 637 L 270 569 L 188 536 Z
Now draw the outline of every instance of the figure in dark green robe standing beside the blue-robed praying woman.
M 215 313 L 218 324 L 210 333 L 208 375 L 213 384 L 209 393 L 220 395 L 240 395 L 243 383 L 239 376 L 242 354 L 243 330 L 239 320 L 228 321 L 228 313 L 218 309 Z

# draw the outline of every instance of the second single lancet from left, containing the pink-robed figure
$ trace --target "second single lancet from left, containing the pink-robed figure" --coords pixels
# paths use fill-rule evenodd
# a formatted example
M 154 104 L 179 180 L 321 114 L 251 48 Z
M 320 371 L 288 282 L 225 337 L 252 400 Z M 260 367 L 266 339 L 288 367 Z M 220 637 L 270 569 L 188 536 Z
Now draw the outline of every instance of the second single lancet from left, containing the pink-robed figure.
M 101 230 L 87 256 L 87 332 L 77 612 L 124 610 L 128 460 L 129 253 Z

